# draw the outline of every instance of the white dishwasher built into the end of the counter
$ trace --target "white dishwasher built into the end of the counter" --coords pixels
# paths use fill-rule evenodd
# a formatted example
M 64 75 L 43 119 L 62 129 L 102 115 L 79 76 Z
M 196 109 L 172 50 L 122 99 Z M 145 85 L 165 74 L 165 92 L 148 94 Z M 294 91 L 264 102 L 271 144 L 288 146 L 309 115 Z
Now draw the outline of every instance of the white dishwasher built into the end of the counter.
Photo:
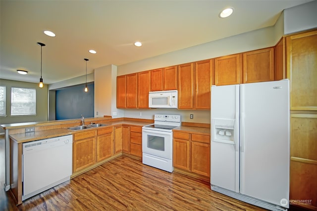
M 73 135 L 22 144 L 22 201 L 70 179 Z

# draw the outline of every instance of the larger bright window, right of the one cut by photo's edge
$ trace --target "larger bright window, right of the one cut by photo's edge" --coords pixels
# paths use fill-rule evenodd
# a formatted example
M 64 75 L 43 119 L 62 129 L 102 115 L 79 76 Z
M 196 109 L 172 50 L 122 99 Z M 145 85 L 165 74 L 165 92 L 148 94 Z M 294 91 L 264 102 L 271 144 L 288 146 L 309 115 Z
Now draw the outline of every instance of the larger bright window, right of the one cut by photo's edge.
M 11 88 L 11 115 L 35 115 L 36 90 L 34 88 Z

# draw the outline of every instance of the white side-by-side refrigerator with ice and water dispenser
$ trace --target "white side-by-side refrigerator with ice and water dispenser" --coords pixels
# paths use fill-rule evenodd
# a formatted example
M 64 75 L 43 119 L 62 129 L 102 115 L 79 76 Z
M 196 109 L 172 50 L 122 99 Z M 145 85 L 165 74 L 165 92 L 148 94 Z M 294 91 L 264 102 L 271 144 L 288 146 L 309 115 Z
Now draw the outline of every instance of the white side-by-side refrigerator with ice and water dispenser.
M 289 81 L 211 86 L 211 190 L 289 208 Z

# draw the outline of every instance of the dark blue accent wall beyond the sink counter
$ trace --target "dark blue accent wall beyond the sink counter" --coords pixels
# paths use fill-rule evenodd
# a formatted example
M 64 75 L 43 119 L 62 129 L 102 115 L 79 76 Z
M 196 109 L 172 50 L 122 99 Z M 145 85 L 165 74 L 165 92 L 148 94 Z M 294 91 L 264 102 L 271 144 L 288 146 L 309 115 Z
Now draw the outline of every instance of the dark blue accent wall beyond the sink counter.
M 56 120 L 80 119 L 81 115 L 94 117 L 95 85 L 88 84 L 56 90 Z

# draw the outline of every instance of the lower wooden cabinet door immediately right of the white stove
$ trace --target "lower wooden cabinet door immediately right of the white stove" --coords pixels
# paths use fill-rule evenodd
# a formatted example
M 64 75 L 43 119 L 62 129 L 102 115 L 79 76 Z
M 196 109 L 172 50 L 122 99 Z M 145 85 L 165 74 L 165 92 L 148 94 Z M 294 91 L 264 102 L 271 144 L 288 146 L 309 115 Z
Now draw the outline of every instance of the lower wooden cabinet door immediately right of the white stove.
M 179 169 L 190 170 L 189 167 L 189 141 L 173 139 L 173 166 Z

